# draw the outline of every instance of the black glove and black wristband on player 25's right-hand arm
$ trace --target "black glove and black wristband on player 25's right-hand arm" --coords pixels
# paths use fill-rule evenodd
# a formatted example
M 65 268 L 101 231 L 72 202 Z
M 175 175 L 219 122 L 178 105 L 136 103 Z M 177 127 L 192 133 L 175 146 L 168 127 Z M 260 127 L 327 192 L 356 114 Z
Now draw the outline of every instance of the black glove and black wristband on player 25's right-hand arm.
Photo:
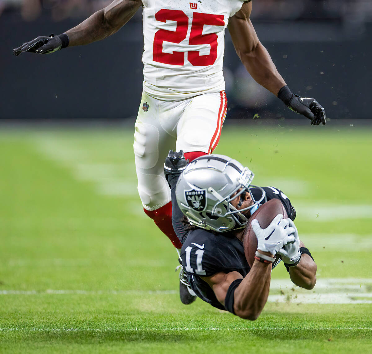
M 288 86 L 283 86 L 278 93 L 285 105 L 292 111 L 304 115 L 311 120 L 311 124 L 326 124 L 324 108 L 316 99 L 310 97 L 300 97 L 291 92 Z

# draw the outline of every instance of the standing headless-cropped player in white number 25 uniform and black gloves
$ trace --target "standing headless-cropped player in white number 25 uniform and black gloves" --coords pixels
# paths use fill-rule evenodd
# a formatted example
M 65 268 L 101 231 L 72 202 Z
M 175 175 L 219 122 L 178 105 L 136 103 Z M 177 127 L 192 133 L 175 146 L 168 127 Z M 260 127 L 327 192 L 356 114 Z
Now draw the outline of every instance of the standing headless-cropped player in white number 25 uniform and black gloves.
M 76 27 L 60 35 L 39 36 L 13 53 L 48 54 L 102 40 L 119 31 L 140 7 L 144 81 L 133 145 L 138 194 L 145 214 L 179 253 L 182 243 L 172 227 L 162 156 L 175 148 L 192 161 L 217 147 L 227 113 L 222 71 L 226 28 L 256 82 L 311 124 L 326 124 L 326 118 L 315 99 L 292 93 L 279 74 L 251 23 L 251 0 L 114 0 Z

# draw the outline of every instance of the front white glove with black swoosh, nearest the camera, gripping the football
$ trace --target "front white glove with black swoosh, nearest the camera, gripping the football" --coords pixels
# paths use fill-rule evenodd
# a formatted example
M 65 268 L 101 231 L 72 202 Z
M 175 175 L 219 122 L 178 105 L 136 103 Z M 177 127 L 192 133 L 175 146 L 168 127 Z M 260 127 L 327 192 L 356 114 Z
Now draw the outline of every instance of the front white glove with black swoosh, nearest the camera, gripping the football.
M 261 229 L 259 222 L 252 220 L 252 229 L 257 237 L 257 249 L 276 255 L 288 242 L 294 242 L 292 235 L 296 229 L 288 227 L 291 219 L 283 219 L 283 214 L 278 214 L 266 229 Z

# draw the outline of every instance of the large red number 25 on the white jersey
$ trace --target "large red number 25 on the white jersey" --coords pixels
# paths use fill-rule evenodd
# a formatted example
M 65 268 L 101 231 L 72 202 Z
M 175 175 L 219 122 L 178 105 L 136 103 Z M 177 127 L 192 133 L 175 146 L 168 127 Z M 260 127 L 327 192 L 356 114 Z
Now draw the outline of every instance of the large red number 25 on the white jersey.
M 173 51 L 170 53 L 163 52 L 163 42 L 180 43 L 187 36 L 189 27 L 189 17 L 180 10 L 161 9 L 155 13 L 155 19 L 160 22 L 172 20 L 177 22 L 176 31 L 167 31 L 159 29 L 154 37 L 153 60 L 158 63 L 171 65 L 184 65 L 185 53 Z M 203 26 L 224 26 L 223 15 L 212 15 L 209 13 L 194 12 L 190 31 L 189 44 L 209 44 L 211 50 L 208 55 L 200 55 L 199 51 L 188 51 L 187 60 L 193 66 L 212 65 L 217 59 L 217 34 L 210 33 L 203 35 Z

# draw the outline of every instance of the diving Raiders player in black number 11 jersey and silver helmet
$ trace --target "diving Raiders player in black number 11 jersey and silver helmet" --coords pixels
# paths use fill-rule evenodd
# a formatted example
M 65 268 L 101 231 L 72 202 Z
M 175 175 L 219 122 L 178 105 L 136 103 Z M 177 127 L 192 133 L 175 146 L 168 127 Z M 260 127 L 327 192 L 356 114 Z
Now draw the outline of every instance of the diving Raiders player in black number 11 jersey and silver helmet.
M 187 164 L 182 151 L 170 151 L 164 175 L 171 188 L 173 227 L 182 243 L 183 303 L 198 296 L 218 309 L 255 320 L 269 295 L 272 268 L 280 261 L 293 283 L 314 287 L 317 265 L 299 239 L 295 209 L 279 189 L 251 185 L 254 174 L 247 167 L 218 154 Z M 259 205 L 273 198 L 282 202 L 289 218 L 279 214 L 266 229 L 252 220 L 258 245 L 250 268 L 244 228 Z

